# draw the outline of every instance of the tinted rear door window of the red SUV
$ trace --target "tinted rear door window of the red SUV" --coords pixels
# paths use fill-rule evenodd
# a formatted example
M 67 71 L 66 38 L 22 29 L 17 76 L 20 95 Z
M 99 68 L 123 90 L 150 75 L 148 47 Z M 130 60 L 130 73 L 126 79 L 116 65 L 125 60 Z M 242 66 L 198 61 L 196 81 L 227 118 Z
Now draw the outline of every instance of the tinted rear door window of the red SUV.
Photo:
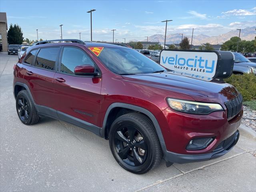
M 54 70 L 58 58 L 59 47 L 42 48 L 36 57 L 35 66 L 39 68 Z

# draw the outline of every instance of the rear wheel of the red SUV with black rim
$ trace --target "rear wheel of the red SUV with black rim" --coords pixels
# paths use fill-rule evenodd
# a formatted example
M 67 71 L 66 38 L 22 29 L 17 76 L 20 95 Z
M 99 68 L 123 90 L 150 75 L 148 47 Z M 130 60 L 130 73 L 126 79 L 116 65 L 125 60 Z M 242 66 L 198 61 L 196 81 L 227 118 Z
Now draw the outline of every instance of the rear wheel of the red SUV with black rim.
M 33 125 L 40 121 L 33 100 L 26 90 L 21 90 L 16 97 L 16 110 L 20 121 L 25 125 Z

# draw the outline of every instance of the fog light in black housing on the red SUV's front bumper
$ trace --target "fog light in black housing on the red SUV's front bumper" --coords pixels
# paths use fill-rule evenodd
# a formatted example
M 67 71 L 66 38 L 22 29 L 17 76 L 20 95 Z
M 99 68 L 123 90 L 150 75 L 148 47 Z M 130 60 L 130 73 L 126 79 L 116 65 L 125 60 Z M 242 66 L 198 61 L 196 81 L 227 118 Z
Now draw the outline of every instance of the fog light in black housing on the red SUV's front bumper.
M 214 138 L 205 137 L 205 138 L 195 138 L 190 140 L 189 144 L 186 147 L 186 150 L 201 150 L 206 148 Z

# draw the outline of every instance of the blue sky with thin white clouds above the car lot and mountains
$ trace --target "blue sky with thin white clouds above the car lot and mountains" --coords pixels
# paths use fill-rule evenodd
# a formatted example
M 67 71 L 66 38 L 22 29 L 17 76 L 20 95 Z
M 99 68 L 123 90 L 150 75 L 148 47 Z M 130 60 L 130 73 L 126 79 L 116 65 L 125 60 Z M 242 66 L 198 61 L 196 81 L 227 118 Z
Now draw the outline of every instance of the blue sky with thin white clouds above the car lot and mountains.
M 92 13 L 93 40 L 112 41 L 111 29 L 116 29 L 115 39 L 126 42 L 144 40 L 144 36 L 184 33 L 209 36 L 223 34 L 236 28 L 256 26 L 255 0 L 208 0 L 208 1 L 12 1 L 1 0 L 0 12 L 6 12 L 8 26 L 21 26 L 24 38 L 63 38 L 90 40 L 90 9 Z

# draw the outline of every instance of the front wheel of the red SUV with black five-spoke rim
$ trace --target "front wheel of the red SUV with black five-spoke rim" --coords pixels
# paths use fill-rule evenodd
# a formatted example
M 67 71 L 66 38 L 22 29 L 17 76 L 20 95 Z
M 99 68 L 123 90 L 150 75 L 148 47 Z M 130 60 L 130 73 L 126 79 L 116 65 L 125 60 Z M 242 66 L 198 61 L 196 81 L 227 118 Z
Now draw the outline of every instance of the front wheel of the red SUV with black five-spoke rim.
M 162 159 L 162 149 L 152 122 L 143 114 L 124 114 L 112 123 L 109 132 L 111 152 L 122 168 L 144 174 Z

